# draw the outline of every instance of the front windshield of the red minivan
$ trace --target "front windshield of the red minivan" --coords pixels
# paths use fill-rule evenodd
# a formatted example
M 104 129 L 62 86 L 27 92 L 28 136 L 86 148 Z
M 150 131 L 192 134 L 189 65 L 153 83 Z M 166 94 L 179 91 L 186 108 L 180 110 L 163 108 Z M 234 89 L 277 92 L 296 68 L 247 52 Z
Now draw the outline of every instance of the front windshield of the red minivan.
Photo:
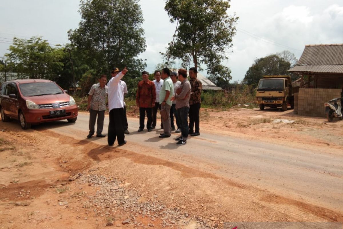
M 19 84 L 21 93 L 24 96 L 55 95 L 63 91 L 53 82 L 32 82 Z

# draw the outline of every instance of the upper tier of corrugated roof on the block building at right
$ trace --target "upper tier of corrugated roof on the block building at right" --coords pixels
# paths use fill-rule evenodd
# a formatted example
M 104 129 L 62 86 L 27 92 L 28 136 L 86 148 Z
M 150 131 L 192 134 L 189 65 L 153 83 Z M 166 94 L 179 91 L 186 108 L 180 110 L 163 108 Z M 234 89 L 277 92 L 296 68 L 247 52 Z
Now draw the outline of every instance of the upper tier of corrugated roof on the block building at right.
M 343 65 L 343 44 L 306 45 L 297 65 Z

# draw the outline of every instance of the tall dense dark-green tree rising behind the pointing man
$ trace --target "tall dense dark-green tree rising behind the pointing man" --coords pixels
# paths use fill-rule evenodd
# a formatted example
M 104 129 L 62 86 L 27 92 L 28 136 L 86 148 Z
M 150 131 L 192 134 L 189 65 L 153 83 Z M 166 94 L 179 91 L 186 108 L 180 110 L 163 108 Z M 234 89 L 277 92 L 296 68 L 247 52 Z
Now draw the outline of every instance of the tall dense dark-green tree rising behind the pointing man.
M 137 0 L 81 0 L 79 28 L 68 32 L 72 45 L 97 75 L 127 67 L 128 76 L 145 67 L 137 59 L 145 51 L 142 10 Z M 135 71 L 136 70 L 136 71 Z

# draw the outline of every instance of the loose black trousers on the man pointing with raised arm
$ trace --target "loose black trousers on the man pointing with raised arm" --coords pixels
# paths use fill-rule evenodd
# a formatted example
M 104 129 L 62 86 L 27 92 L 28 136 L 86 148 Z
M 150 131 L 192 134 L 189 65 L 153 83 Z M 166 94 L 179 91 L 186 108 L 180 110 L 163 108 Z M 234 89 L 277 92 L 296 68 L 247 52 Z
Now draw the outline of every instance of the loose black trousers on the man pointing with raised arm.
M 123 144 L 125 141 L 124 127 L 124 108 L 114 108 L 109 112 L 108 124 L 108 145 L 113 145 L 118 138 L 118 144 Z

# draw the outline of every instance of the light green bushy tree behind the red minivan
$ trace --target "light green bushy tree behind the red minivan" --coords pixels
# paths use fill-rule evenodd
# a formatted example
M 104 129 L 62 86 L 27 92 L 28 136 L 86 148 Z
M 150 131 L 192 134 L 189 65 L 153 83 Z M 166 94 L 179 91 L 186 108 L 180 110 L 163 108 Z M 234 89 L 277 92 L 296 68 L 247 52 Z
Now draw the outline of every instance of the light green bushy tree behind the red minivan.
M 34 36 L 30 39 L 13 38 L 8 60 L 15 66 L 19 77 L 29 76 L 31 79 L 52 79 L 57 70 L 63 68 L 60 60 L 63 52 L 53 48 L 42 37 Z

